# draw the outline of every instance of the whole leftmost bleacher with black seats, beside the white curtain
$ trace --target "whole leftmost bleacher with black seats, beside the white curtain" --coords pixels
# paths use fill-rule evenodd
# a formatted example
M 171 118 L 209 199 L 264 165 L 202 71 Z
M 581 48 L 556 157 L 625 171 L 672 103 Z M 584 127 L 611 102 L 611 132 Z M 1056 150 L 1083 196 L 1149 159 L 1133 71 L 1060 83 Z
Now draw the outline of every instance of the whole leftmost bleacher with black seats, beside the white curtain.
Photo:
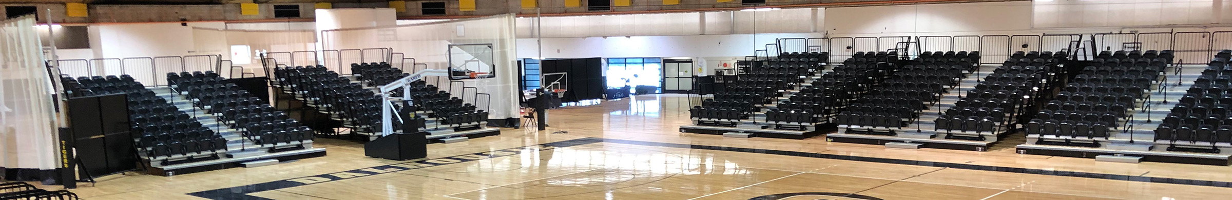
M 266 102 L 251 99 L 213 72 L 169 73 L 168 83 L 148 88 L 127 74 L 62 78 L 70 98 L 128 95 L 133 148 L 150 174 L 188 174 L 241 162 L 325 154 L 323 148 L 312 148 L 312 135 L 304 132 L 310 130 L 290 126 L 294 122 L 285 115 L 265 112 L 272 110 Z M 209 112 L 214 107 L 229 110 Z M 237 127 L 240 111 L 250 114 L 244 119 L 260 122 L 259 127 Z

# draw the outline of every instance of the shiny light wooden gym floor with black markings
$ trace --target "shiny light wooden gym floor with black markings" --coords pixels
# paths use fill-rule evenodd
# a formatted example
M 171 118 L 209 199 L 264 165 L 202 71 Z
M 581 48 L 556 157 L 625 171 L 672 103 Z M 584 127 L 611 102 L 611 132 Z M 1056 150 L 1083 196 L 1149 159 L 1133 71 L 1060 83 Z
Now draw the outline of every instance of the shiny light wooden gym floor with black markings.
M 694 100 L 697 100 L 696 98 Z M 429 159 L 363 157 L 362 144 L 317 140 L 328 156 L 176 177 L 126 173 L 71 191 L 132 199 L 719 199 L 1018 200 L 1227 199 L 1232 167 L 1106 163 L 1014 153 L 887 149 L 808 140 L 679 132 L 683 95 L 643 95 L 552 110 L 547 131 L 428 146 Z M 568 133 L 553 133 L 568 131 Z M 58 186 L 52 186 L 58 189 Z

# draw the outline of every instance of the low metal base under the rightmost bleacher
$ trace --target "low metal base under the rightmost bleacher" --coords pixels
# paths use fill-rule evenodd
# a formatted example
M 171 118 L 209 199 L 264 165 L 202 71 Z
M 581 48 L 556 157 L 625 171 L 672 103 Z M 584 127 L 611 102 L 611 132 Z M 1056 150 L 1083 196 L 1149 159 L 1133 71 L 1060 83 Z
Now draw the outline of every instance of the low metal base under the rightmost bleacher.
M 1099 156 L 1129 156 L 1129 157 L 1142 157 L 1143 162 L 1232 165 L 1232 156 L 1211 154 L 1211 153 L 1124 151 L 1124 149 L 1048 146 L 1048 144 L 1019 144 L 1018 153 L 1074 157 L 1074 158 L 1096 158 Z

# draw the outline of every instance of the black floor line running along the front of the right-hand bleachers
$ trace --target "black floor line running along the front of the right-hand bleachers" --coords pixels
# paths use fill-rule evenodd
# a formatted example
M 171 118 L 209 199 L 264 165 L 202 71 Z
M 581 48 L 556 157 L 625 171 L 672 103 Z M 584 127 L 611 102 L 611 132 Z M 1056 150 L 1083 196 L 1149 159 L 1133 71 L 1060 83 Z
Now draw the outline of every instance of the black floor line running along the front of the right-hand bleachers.
M 680 143 L 663 143 L 663 142 L 646 142 L 646 141 L 626 141 L 626 140 L 610 140 L 610 138 L 605 138 L 604 142 L 623 143 L 623 144 L 637 144 L 637 146 L 654 146 L 654 147 L 711 149 L 711 151 L 726 151 L 726 152 L 765 153 L 765 154 L 779 154 L 779 156 L 792 156 L 792 157 L 825 158 L 825 159 L 841 159 L 841 160 L 857 160 L 857 162 L 873 162 L 873 163 L 890 163 L 890 164 L 907 164 L 907 165 L 939 167 L 939 168 L 955 168 L 955 169 L 971 169 L 971 170 L 987 170 L 987 172 L 1003 172 L 1003 173 L 1019 173 L 1019 174 L 1037 174 L 1037 175 L 1056 175 L 1056 177 L 1078 177 L 1078 178 L 1125 180 L 1125 181 L 1143 181 L 1143 183 L 1163 183 L 1163 184 L 1179 184 L 1179 185 L 1232 188 L 1232 183 L 1230 183 L 1230 181 L 1216 181 L 1216 180 L 1194 180 L 1194 179 L 1173 179 L 1173 178 L 1141 177 L 1141 175 L 1117 175 L 1117 174 L 1084 173 L 1084 172 L 1068 172 L 1068 170 L 1027 169 L 1027 168 L 1011 168 L 1011 167 L 995 167 L 995 165 L 962 164 L 962 163 L 924 162 L 924 160 L 910 160 L 910 159 L 873 158 L 873 157 L 857 157 L 857 156 L 841 156 L 841 154 L 823 154 L 823 153 L 776 151 L 776 149 L 761 149 L 761 148 L 717 147 L 717 146 L 680 144 Z

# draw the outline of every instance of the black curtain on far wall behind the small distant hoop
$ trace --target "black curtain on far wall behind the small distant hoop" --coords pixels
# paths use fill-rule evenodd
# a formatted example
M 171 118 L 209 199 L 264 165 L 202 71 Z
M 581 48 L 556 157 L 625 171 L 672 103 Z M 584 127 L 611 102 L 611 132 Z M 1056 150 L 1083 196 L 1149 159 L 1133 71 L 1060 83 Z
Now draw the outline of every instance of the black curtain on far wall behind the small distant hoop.
M 569 73 L 569 91 L 561 98 L 562 102 L 602 98 L 602 58 L 545 59 L 540 64 L 543 74 Z

